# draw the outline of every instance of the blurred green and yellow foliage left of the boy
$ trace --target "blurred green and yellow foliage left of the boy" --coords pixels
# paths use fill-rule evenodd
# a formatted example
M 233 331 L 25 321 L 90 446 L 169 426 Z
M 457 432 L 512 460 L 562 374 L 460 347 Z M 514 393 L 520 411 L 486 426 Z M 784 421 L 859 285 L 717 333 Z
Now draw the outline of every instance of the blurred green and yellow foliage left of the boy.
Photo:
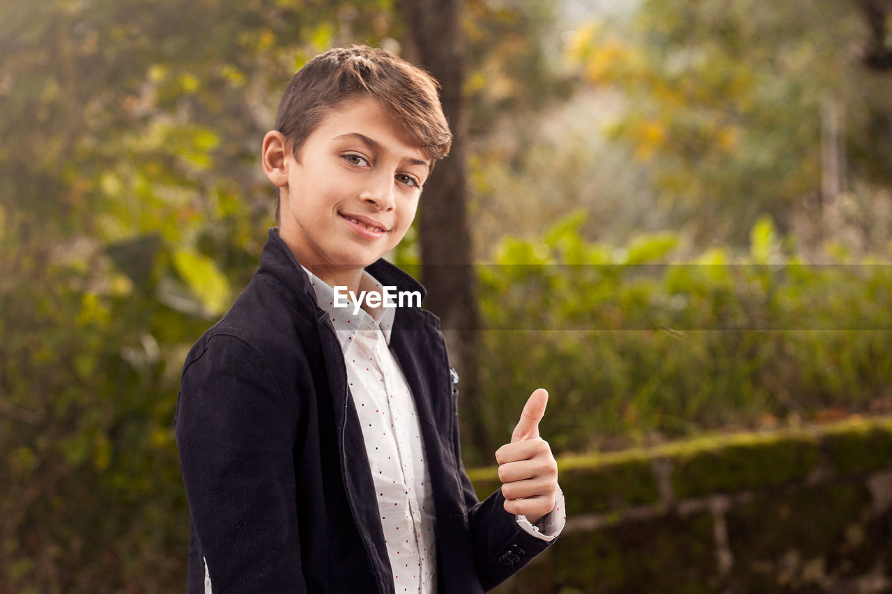
M 0 0 L 0 590 L 181 590 L 186 351 L 257 266 L 293 71 L 393 6 Z

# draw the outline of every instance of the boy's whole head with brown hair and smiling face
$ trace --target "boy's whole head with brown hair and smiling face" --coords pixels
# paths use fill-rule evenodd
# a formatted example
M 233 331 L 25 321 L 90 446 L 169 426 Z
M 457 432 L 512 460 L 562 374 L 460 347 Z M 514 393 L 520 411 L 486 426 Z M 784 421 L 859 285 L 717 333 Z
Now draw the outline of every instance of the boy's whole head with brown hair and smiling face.
M 279 235 L 301 264 L 355 279 L 406 234 L 450 144 L 424 70 L 365 46 L 318 55 L 292 78 L 263 138 Z

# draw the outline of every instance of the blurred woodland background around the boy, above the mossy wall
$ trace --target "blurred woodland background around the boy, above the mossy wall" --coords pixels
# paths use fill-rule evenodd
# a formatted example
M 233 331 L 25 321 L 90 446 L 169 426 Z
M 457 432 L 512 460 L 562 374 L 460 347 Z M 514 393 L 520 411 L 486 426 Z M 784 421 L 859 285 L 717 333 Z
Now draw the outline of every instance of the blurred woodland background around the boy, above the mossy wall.
M 892 413 L 888 0 L 0 0 L 0 592 L 183 589 L 182 362 L 274 224 L 286 82 L 351 43 L 443 83 L 456 148 L 391 257 L 468 468 L 539 386 L 567 459 Z M 884 517 L 850 548 L 879 585 L 765 583 L 890 591 Z M 755 591 L 717 567 L 653 591 Z M 578 573 L 537 591 L 642 591 Z

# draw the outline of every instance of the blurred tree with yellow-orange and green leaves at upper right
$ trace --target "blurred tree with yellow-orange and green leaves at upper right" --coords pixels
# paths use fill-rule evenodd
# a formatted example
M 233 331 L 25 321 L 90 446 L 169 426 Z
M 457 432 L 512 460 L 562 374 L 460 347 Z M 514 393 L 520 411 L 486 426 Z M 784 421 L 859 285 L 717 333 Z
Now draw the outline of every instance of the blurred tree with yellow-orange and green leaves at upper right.
M 679 222 L 744 244 L 764 213 L 789 230 L 820 211 L 830 103 L 846 114 L 842 186 L 892 185 L 892 81 L 855 59 L 870 37 L 850 3 L 644 2 L 632 30 L 596 26 L 574 51 L 592 85 L 624 93 L 611 132 L 648 163 Z

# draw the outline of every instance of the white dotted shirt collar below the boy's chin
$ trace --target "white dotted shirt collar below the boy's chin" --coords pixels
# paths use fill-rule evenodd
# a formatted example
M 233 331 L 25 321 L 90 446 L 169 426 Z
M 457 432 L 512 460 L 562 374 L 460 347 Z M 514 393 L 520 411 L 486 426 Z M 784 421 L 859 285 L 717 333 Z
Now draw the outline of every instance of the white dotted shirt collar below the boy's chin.
M 319 308 L 325 311 L 335 326 L 335 334 L 341 342 L 341 349 L 346 352 L 347 348 L 353 342 L 354 337 L 359 331 L 376 331 L 378 329 L 384 334 L 384 341 L 390 345 L 391 332 L 393 329 L 393 318 L 396 315 L 396 309 L 392 307 L 378 306 L 376 308 L 369 307 L 369 314 L 365 309 L 356 309 L 353 301 L 348 297 L 348 307 L 335 307 L 335 289 L 328 285 L 325 281 L 314 275 L 308 268 L 301 264 L 301 268 L 307 273 L 310 279 L 310 286 L 316 293 L 316 301 Z M 384 294 L 384 286 L 377 279 L 370 275 L 367 270 L 362 271 L 362 277 L 359 279 L 359 291 L 374 291 L 378 294 Z M 343 293 L 342 293 L 343 295 Z

